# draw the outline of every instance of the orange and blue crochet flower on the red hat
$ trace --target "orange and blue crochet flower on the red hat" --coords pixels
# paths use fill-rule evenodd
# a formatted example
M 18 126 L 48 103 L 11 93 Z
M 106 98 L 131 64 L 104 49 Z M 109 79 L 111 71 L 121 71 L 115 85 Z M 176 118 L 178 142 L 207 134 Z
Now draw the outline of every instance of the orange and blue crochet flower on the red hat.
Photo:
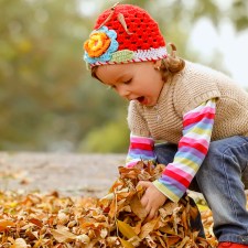
M 110 61 L 112 53 L 119 46 L 116 37 L 116 31 L 108 30 L 107 26 L 94 30 L 89 35 L 89 40 L 84 43 L 84 60 L 89 64 Z

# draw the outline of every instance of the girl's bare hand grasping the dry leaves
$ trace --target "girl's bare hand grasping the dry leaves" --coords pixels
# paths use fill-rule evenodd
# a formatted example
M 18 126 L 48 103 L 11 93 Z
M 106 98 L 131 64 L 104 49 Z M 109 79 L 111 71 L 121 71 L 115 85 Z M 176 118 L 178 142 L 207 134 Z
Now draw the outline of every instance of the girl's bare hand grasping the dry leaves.
M 168 197 L 160 192 L 152 182 L 140 181 L 138 185 L 145 188 L 141 198 L 141 205 L 148 213 L 147 219 L 150 220 L 158 215 L 159 208 L 165 203 Z

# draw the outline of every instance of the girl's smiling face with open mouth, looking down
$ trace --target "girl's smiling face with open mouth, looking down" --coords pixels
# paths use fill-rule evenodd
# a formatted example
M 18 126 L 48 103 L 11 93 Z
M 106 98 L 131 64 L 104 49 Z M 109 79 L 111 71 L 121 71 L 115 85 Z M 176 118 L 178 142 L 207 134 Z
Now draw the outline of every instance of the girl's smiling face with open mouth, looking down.
M 100 65 L 96 76 L 128 100 L 138 100 L 144 106 L 158 103 L 164 82 L 155 69 L 161 61 L 117 65 Z

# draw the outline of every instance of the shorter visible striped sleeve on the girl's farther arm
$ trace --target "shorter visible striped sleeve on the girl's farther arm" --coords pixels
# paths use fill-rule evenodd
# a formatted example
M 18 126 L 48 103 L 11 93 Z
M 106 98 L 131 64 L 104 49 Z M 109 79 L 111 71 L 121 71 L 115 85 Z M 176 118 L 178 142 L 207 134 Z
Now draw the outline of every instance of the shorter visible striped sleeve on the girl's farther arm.
M 155 161 L 154 140 L 152 138 L 131 134 L 126 166 L 132 168 L 139 161 Z

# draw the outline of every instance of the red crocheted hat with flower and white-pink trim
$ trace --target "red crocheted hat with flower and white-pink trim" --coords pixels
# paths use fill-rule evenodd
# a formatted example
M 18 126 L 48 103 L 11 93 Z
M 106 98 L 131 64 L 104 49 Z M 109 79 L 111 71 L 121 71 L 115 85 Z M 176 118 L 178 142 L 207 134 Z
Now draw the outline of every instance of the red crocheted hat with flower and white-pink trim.
M 158 61 L 168 54 L 151 15 L 137 6 L 118 3 L 98 17 L 84 50 L 90 66 Z

